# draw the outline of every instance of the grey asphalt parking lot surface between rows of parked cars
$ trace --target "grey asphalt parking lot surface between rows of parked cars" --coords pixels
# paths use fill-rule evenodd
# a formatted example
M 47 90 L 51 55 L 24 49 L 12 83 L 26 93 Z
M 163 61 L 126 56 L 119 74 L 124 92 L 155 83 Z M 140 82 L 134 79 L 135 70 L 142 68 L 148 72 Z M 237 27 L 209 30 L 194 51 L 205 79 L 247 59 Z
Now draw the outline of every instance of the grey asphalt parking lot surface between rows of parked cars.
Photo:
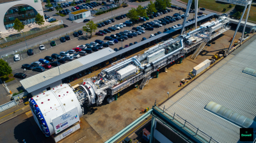
M 33 56 L 28 56 L 28 54 L 24 53 L 24 54 L 20 55 L 20 59 L 22 59 L 21 61 L 17 61 L 15 63 L 13 63 L 13 59 L 8 59 L 8 62 L 13 63 L 13 64 L 11 64 L 12 69 L 13 69 L 13 73 L 24 72 L 24 69 L 21 68 L 22 64 L 31 64 L 34 61 L 38 61 L 38 59 L 44 59 L 45 56 L 51 56 L 54 53 L 60 54 L 61 51 L 71 50 L 71 49 L 77 47 L 77 45 L 85 45 L 86 43 L 90 43 L 90 42 L 95 41 L 95 40 L 102 40 L 102 41 L 106 42 L 108 40 L 104 40 L 105 36 L 110 36 L 111 34 L 120 33 L 120 31 L 124 31 L 124 30 L 131 30 L 132 27 L 140 26 L 143 23 L 150 22 L 150 21 L 155 20 L 155 19 L 161 19 L 163 17 L 166 17 L 167 15 L 172 16 L 173 13 L 179 13 L 179 12 L 181 14 L 184 13 L 184 11 L 179 11 L 179 10 L 174 10 L 174 9 L 172 9 L 172 10 L 173 10 L 172 12 L 163 14 L 159 17 L 155 17 L 154 19 L 150 19 L 150 20 L 147 20 L 145 22 L 140 22 L 139 24 L 134 24 L 134 26 L 130 26 L 130 27 L 127 26 L 127 27 L 121 28 L 120 30 L 112 31 L 111 33 L 105 34 L 104 36 L 93 36 L 93 38 L 90 38 L 88 40 L 85 40 L 86 33 L 84 31 L 83 31 L 84 32 L 83 36 L 79 36 L 79 37 L 76 37 L 76 38 L 73 36 L 73 33 L 70 33 L 69 36 L 70 36 L 71 40 L 68 40 L 65 43 L 62 43 L 60 40 L 56 40 L 57 45 L 54 46 L 54 47 L 51 47 L 50 43 L 47 43 L 47 44 L 45 44 L 45 50 L 39 50 L 39 48 L 35 49 L 34 50 L 35 54 Z M 190 14 L 188 19 L 193 19 L 193 14 Z M 113 22 L 113 23 L 111 23 L 107 26 L 100 27 L 95 32 L 97 32 L 99 30 L 103 30 L 103 29 L 108 29 L 108 27 L 115 26 L 116 24 L 120 24 L 122 22 L 125 22 L 125 20 L 129 20 L 129 19 L 127 19 L 127 18 L 124 18 L 124 19 L 121 19 L 121 20 L 116 20 L 115 19 L 115 22 Z M 119 47 L 124 47 L 124 45 L 129 45 L 129 43 L 134 43 L 135 41 L 140 42 L 143 37 L 148 39 L 150 34 L 157 33 L 158 31 L 163 33 L 164 28 L 172 27 L 172 26 L 175 26 L 177 24 L 182 24 L 182 21 L 183 21 L 183 19 L 182 20 L 177 20 L 176 22 L 173 22 L 173 23 L 170 23 L 170 24 L 167 24 L 165 27 L 162 26 L 162 27 L 159 27 L 159 28 L 154 28 L 154 31 L 145 31 L 144 34 L 134 36 L 133 38 L 129 38 L 128 40 L 125 40 L 123 42 L 118 41 L 118 43 L 115 43 L 115 45 L 109 45 L 109 47 L 111 49 L 115 49 L 115 48 L 119 49 Z M 92 34 L 94 35 L 95 33 L 92 33 Z M 89 35 L 89 33 L 87 33 L 87 36 L 88 35 Z M 81 57 L 83 57 L 83 56 L 81 56 Z M 79 57 L 79 58 L 81 58 L 81 57 Z M 68 62 L 68 61 L 66 61 L 66 62 Z M 52 68 L 54 68 L 54 67 L 52 67 Z M 28 71 L 28 70 L 26 71 L 26 74 L 28 75 L 28 77 L 31 77 L 31 76 L 33 76 L 37 73 L 38 72 L 33 72 L 33 71 Z

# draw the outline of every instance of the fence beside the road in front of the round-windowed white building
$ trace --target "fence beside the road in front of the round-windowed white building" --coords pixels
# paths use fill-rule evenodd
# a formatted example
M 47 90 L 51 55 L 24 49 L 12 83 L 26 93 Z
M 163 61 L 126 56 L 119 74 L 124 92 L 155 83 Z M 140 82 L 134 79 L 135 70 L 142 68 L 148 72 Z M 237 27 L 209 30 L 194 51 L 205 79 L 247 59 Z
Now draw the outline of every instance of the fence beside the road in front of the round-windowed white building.
M 45 27 L 36 27 L 36 28 L 33 28 L 33 29 L 31 29 L 29 31 L 26 31 L 24 33 L 15 34 L 13 36 L 5 37 L 5 38 L 0 40 L 0 43 L 3 44 L 3 43 L 6 43 L 6 42 L 9 42 L 9 41 L 17 40 L 19 38 L 24 38 L 24 36 L 26 37 L 26 36 L 29 36 L 31 34 L 38 33 L 40 31 L 45 31 L 45 30 L 50 29 L 52 27 L 59 26 L 60 24 L 63 24 L 63 22 L 59 22 L 59 24 L 51 24 L 50 26 L 45 26 Z

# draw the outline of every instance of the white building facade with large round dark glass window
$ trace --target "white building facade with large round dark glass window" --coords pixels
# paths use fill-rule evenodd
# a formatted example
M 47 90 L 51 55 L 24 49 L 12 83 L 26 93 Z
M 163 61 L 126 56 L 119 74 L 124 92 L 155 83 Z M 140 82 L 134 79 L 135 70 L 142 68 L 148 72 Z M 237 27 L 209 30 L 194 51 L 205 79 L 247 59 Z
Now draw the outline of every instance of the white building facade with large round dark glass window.
M 44 15 L 42 3 L 40 0 L 19 0 L 10 1 L 0 4 L 1 11 L 0 19 L 0 32 L 5 33 L 8 29 L 14 26 L 15 19 L 19 19 L 24 25 L 35 22 L 35 16 L 37 13 Z

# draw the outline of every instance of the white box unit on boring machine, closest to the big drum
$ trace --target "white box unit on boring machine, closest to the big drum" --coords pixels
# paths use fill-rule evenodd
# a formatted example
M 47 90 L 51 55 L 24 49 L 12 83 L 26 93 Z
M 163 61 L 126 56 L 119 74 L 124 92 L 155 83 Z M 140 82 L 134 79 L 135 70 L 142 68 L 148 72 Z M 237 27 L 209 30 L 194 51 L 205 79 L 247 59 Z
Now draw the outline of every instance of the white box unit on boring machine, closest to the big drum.
M 121 70 L 118 70 L 116 72 L 116 76 L 119 80 L 122 80 L 128 75 L 131 75 L 132 73 L 136 73 L 136 72 L 137 72 L 136 66 L 131 64 L 129 66 L 126 66 L 125 68 L 122 68 Z

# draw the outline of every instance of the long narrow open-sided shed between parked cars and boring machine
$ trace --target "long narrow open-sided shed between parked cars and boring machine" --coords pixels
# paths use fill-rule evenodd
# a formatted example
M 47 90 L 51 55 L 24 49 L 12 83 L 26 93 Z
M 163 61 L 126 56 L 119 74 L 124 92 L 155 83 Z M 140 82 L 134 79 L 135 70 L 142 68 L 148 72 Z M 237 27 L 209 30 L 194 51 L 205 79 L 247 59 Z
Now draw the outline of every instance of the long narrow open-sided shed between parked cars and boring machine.
M 201 17 L 198 19 L 198 22 L 204 23 L 212 19 L 214 15 L 216 15 L 216 13 L 211 13 L 209 15 Z M 193 24 L 195 24 L 195 21 L 186 23 L 185 24 L 186 29 L 190 29 L 191 27 L 193 27 Z M 109 62 L 109 64 L 113 63 L 113 59 L 115 59 L 115 61 L 118 59 L 123 59 L 125 56 L 131 55 L 134 52 L 138 52 L 139 50 L 144 49 L 149 45 L 154 45 L 155 43 L 158 43 L 159 41 L 162 41 L 162 40 L 168 40 L 168 38 L 179 33 L 180 29 L 181 29 L 181 26 L 175 29 L 171 29 L 170 31 L 161 33 L 157 36 L 154 36 L 153 38 L 149 38 L 147 40 L 141 41 L 123 50 L 119 50 L 118 52 L 112 52 L 113 50 L 111 50 L 110 48 L 99 50 L 98 52 L 79 58 L 78 61 L 75 60 L 75 61 L 69 62 L 70 64 L 66 63 L 59 67 L 47 70 L 44 73 L 38 73 L 33 77 L 20 80 L 20 84 L 22 84 L 22 87 L 27 93 L 31 93 L 32 96 L 34 96 L 36 94 L 42 93 L 43 91 L 50 90 L 52 87 L 58 86 L 61 83 L 68 83 L 70 82 L 70 80 L 72 81 L 76 79 L 77 76 L 79 75 L 88 74 L 90 73 L 90 71 L 92 71 L 93 67 L 96 67 L 96 66 L 104 67 L 107 62 Z M 79 61 L 87 61 L 87 62 L 86 63 L 83 62 L 83 66 L 82 66 L 82 64 Z M 74 66 L 72 63 L 76 63 L 74 65 L 77 65 L 77 67 L 70 68 Z M 60 68 L 60 72 L 58 68 Z

